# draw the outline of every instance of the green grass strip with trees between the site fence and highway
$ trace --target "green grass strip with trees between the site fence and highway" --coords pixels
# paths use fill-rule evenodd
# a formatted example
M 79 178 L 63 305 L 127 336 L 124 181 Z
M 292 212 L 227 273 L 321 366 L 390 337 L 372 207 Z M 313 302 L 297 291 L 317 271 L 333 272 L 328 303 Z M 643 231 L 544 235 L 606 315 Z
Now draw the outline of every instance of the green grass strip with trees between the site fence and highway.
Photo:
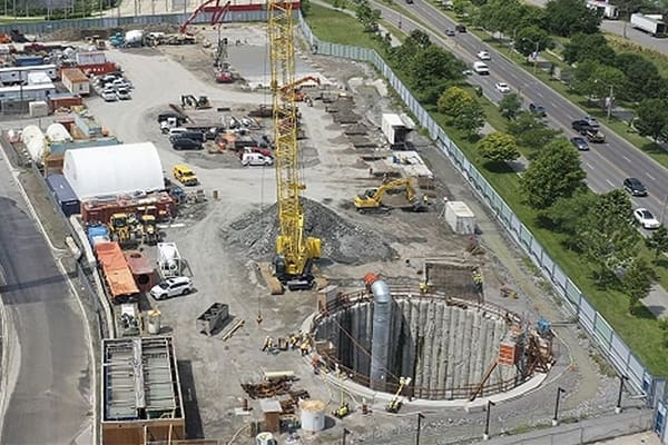
M 371 47 L 380 49 L 380 43 L 372 39 L 369 33 L 362 31 L 361 24 L 351 16 L 340 11 L 313 6 L 307 21 L 313 32 L 322 40 Z M 344 31 L 345 30 L 345 31 Z M 380 51 L 382 53 L 382 51 Z M 523 58 L 519 55 L 509 56 L 527 67 Z M 395 73 L 402 78 L 401 72 Z M 550 86 L 560 86 L 559 82 L 549 80 L 547 73 L 539 71 L 541 80 Z M 472 87 L 468 87 L 473 91 Z M 566 87 L 564 87 L 566 88 Z M 557 89 L 557 88 L 556 88 Z M 561 91 L 560 91 L 561 92 Z M 498 108 L 492 102 L 482 98 L 488 122 L 500 130 L 505 129 L 505 120 L 499 115 Z M 456 146 L 466 155 L 470 161 L 490 181 L 494 189 L 503 197 L 518 217 L 530 228 L 542 247 L 550 253 L 551 258 L 559 264 L 563 271 L 587 295 L 589 301 L 603 315 L 606 320 L 621 335 L 627 345 L 640 357 L 645 366 L 655 375 L 668 375 L 668 349 L 662 346 L 662 332 L 658 320 L 644 309 L 638 314 L 630 315 L 628 312 L 628 298 L 619 291 L 600 289 L 593 283 L 592 268 L 588 261 L 573 255 L 562 246 L 562 235 L 540 229 L 536 226 L 537 214 L 522 202 L 519 176 L 507 165 L 490 165 L 475 151 L 475 141 L 470 140 L 460 130 L 448 126 L 446 118 L 439 115 L 434 107 L 429 108 L 431 116 L 441 125 L 448 135 L 455 141 Z M 600 116 L 600 113 L 599 113 Z M 637 136 L 637 135 L 636 135 Z M 527 150 L 522 150 L 524 154 Z M 668 159 L 667 159 L 668 161 Z M 639 246 L 642 256 L 654 259 L 645 246 Z M 668 263 L 668 261 L 665 261 Z M 657 267 L 662 284 L 668 284 L 668 268 L 666 265 Z

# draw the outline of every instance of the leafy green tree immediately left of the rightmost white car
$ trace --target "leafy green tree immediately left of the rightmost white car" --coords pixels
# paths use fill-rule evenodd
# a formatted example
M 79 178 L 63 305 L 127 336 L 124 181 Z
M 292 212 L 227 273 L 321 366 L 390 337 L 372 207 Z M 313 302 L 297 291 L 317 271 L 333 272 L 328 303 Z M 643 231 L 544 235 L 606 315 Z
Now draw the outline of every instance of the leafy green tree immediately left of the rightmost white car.
M 582 253 L 598 268 L 593 278 L 605 285 L 627 267 L 639 237 L 629 195 L 621 189 L 598 195 L 578 233 Z

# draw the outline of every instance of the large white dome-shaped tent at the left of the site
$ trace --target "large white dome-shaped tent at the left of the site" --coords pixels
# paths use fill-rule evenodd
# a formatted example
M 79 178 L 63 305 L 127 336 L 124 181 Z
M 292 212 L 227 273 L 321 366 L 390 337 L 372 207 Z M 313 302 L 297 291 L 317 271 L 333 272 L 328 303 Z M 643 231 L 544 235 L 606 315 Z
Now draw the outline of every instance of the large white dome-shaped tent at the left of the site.
M 79 200 L 165 187 L 151 142 L 67 150 L 62 172 Z

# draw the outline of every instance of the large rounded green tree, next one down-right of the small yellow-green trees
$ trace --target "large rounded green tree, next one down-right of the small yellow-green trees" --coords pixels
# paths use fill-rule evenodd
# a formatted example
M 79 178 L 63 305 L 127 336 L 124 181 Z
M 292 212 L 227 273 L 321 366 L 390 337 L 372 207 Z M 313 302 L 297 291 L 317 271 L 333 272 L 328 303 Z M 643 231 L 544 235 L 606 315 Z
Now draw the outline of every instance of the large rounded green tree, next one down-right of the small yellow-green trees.
M 521 187 L 532 208 L 546 209 L 558 198 L 571 197 L 584 187 L 586 177 L 578 151 L 566 138 L 558 138 L 529 164 Z

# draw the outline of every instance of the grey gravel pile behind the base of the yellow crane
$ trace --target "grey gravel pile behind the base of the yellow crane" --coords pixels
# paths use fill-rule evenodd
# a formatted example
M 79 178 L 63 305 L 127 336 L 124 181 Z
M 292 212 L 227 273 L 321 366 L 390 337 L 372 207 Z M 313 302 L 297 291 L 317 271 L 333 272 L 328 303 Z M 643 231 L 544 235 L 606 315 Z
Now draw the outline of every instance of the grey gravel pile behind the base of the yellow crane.
M 224 240 L 239 247 L 254 260 L 274 257 L 278 233 L 277 204 L 264 211 L 252 211 L 222 229 Z M 346 265 L 390 260 L 396 251 L 387 237 L 357 226 L 322 204 L 304 199 L 305 236 L 322 239 L 322 258 Z M 391 240 L 391 239 L 390 239 Z

